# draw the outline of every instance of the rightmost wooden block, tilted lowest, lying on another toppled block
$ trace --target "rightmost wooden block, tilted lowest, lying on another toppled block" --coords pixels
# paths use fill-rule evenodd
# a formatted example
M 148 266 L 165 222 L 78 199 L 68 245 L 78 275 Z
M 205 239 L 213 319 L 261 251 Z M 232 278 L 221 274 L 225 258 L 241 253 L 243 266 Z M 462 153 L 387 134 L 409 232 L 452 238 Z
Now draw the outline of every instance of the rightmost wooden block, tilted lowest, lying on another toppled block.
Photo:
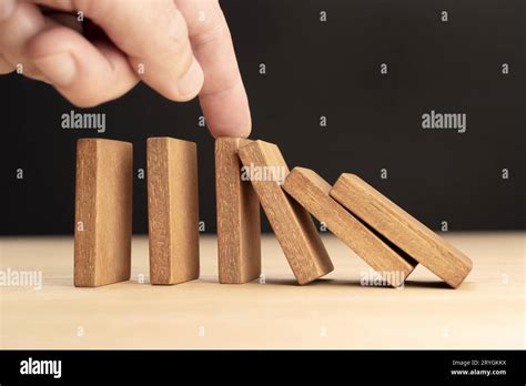
M 472 270 L 467 256 L 358 176 L 342 174 L 331 196 L 452 287 Z

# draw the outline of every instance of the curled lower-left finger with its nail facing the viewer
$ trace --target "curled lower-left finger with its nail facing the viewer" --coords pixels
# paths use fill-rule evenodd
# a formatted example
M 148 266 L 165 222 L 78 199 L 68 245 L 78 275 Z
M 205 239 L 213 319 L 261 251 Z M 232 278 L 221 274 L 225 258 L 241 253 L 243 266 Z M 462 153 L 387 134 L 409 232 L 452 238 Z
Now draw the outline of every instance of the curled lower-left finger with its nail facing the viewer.
M 34 37 L 28 53 L 57 90 L 82 108 L 117 99 L 139 81 L 122 52 L 108 43 L 91 43 L 67 27 Z

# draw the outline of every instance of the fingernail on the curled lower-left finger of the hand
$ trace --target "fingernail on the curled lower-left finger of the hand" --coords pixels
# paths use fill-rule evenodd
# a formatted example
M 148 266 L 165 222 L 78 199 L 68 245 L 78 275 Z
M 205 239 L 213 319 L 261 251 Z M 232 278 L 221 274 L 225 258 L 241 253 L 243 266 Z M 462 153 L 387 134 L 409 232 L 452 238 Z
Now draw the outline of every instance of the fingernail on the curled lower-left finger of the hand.
M 77 63 L 68 52 L 36 59 L 33 63 L 53 85 L 67 87 L 77 77 Z

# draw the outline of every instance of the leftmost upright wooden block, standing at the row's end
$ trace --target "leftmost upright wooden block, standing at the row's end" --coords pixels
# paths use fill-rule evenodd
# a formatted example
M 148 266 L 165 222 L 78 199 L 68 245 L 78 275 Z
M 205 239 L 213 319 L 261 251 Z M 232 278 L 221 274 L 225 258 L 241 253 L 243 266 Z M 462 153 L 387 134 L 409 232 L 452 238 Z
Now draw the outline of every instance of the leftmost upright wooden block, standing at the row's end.
M 131 267 L 133 146 L 77 143 L 74 285 L 128 281 Z

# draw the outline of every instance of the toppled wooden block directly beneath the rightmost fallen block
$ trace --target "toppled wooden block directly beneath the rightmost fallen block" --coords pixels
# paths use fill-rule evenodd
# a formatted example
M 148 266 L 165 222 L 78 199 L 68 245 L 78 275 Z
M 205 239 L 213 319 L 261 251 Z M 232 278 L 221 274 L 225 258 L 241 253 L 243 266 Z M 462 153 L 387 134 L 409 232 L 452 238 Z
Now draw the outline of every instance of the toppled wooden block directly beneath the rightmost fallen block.
M 381 236 L 330 196 L 331 185 L 308 169 L 294 167 L 283 189 L 371 265 L 392 286 L 399 286 L 417 264 L 396 253 Z

